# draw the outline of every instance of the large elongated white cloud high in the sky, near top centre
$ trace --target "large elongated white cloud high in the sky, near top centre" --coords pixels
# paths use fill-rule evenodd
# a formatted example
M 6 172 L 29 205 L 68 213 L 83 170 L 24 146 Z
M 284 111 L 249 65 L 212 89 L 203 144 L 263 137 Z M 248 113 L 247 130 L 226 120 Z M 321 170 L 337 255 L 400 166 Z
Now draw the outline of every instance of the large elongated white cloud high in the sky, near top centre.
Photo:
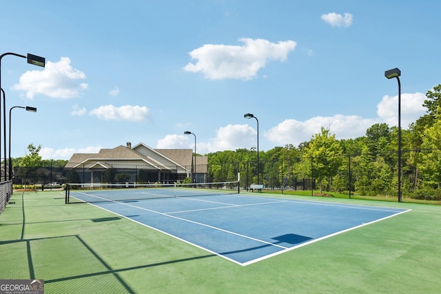
M 296 48 L 295 41 L 271 43 L 264 39 L 239 39 L 244 45 L 206 44 L 189 52 L 196 63 L 188 63 L 186 72 L 203 72 L 206 78 L 221 80 L 236 78 L 249 80 L 269 60 L 285 61 Z

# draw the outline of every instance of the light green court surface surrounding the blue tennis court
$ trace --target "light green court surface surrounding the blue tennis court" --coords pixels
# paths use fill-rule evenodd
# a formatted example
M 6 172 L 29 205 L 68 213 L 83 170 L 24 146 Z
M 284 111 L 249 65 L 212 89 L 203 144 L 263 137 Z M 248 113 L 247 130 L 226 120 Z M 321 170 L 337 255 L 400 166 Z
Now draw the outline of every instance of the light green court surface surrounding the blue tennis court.
M 0 280 L 42 279 L 45 293 L 440 293 L 440 206 L 291 198 L 411 211 L 240 266 L 90 204 L 64 204 L 60 191 L 16 192 L 0 215 Z

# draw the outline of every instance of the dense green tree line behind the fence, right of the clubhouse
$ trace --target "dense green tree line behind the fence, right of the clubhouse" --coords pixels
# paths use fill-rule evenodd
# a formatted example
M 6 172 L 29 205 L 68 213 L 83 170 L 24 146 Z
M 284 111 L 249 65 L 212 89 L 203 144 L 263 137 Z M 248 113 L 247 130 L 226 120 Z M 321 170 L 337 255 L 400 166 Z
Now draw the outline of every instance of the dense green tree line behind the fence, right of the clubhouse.
M 427 91 L 427 114 L 401 130 L 402 196 L 441 200 L 441 85 Z M 377 123 L 365 136 L 337 140 L 321 128 L 298 147 L 285 145 L 268 151 L 236 149 L 207 154 L 213 182 L 257 183 L 269 189 L 295 188 L 301 179 L 314 180 L 316 189 L 364 196 L 398 196 L 398 127 Z

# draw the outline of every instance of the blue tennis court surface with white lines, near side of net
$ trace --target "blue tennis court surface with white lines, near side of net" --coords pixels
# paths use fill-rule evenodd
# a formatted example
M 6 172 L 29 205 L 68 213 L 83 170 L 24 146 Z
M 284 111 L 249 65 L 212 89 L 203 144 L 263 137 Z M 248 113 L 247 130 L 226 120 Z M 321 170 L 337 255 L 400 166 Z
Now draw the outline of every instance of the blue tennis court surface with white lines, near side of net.
M 94 205 L 243 266 L 407 211 L 245 193 Z

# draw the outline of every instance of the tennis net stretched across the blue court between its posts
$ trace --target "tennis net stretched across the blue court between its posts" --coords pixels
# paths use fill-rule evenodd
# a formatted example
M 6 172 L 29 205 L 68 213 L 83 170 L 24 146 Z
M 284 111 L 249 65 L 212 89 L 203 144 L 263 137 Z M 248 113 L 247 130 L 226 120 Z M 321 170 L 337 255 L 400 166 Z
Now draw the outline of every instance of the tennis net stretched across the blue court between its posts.
M 238 182 L 192 184 L 77 184 L 65 189 L 65 203 L 130 201 L 155 198 L 195 197 L 239 193 Z

